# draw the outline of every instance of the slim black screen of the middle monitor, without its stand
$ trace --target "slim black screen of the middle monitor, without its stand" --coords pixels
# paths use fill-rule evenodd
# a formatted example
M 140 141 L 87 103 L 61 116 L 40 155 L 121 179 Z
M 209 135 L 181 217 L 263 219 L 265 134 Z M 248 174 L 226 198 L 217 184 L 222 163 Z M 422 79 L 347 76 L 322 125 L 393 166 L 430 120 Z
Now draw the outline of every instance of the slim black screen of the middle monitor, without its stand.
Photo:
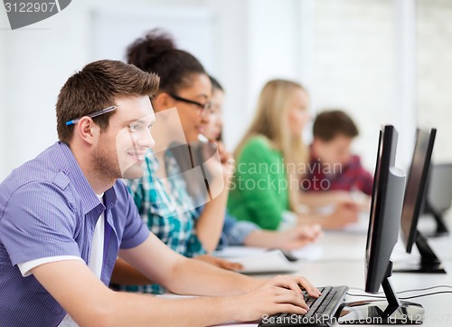
M 401 238 L 408 253 L 416 240 L 419 214 L 426 197 L 428 169 L 436 131 L 432 129 L 417 132 L 401 213 Z

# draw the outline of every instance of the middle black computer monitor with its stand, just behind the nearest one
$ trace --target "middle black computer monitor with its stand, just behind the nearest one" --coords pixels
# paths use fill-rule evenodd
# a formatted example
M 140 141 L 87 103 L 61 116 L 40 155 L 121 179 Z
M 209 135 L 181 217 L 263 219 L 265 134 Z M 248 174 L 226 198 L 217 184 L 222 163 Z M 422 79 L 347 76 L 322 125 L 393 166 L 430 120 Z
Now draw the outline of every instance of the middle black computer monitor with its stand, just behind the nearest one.
M 427 239 L 418 230 L 419 215 L 426 198 L 428 171 L 436 134 L 436 129 L 418 130 L 417 132 L 401 211 L 401 238 L 409 254 L 416 243 L 420 261 L 403 268 L 396 264 L 394 272 L 446 274 L 438 256 L 435 255 L 428 245 Z

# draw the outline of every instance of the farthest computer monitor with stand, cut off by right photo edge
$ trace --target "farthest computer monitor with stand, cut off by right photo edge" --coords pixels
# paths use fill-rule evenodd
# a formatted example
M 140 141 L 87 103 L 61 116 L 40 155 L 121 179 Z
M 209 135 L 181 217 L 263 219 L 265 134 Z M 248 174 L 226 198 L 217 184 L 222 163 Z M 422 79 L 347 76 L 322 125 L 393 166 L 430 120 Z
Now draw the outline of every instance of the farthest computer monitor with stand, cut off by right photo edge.
M 452 163 L 430 164 L 427 181 L 427 196 L 424 202 L 424 214 L 433 216 L 436 229 L 424 236 L 438 237 L 449 235 L 444 221 L 444 213 L 452 203 Z

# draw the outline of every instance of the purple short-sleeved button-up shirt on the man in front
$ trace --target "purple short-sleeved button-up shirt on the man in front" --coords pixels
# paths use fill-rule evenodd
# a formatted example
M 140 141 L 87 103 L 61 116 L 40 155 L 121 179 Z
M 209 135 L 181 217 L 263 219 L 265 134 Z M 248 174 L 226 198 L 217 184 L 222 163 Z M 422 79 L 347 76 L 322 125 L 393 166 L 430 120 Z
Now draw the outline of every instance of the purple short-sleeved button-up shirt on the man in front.
M 33 275 L 16 264 L 57 255 L 88 263 L 94 227 L 106 217 L 101 281 L 108 285 L 118 249 L 143 243 L 149 231 L 122 181 L 104 194 L 89 186 L 71 149 L 57 142 L 14 169 L 0 184 L 0 325 L 56 326 L 66 315 Z

